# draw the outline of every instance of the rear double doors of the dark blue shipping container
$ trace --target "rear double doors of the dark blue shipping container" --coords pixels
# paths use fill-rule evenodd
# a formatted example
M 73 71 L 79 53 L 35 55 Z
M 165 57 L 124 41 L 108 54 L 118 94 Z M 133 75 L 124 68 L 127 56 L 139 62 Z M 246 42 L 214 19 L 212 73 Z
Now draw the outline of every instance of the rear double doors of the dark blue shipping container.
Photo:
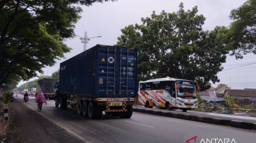
M 98 48 L 97 95 L 131 97 L 136 95 L 137 51 L 134 48 Z

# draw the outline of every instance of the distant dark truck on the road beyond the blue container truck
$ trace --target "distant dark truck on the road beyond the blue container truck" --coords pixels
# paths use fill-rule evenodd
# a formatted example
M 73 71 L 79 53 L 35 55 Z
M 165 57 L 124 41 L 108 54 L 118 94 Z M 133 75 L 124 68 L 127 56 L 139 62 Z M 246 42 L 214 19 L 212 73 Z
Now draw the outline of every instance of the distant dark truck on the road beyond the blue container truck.
M 46 99 L 53 99 L 55 85 L 56 85 L 56 79 L 44 78 L 44 79 L 37 80 L 36 95 L 37 93 L 39 93 L 40 90 L 42 90 Z

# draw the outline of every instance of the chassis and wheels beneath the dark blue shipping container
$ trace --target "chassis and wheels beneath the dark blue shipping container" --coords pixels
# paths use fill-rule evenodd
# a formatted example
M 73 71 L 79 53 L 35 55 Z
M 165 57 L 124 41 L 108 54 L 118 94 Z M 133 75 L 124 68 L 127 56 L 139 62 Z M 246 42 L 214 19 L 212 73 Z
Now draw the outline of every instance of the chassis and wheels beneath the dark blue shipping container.
M 134 98 L 90 98 L 90 97 L 57 97 L 55 107 L 61 109 L 74 109 L 79 115 L 90 119 L 100 119 L 102 111 L 106 115 L 120 116 L 120 118 L 131 118 L 133 114 Z M 114 101 L 113 101 L 114 100 Z

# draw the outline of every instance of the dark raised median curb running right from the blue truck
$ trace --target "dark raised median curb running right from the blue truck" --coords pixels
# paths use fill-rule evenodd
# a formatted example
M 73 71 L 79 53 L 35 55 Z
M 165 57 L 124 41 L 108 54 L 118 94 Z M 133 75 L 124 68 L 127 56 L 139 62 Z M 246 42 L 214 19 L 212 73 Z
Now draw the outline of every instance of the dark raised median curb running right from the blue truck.
M 209 116 L 199 116 L 199 115 L 189 115 L 185 113 L 172 113 L 167 111 L 158 111 L 154 109 L 141 109 L 137 107 L 133 107 L 134 112 L 146 113 L 146 114 L 153 114 L 158 116 L 165 116 L 171 118 L 178 118 L 183 120 L 190 120 L 196 122 L 203 122 L 203 123 L 211 123 L 216 125 L 227 125 L 232 127 L 237 127 L 241 129 L 256 129 L 256 123 L 253 122 L 244 122 L 240 120 L 229 120 L 223 118 L 214 118 Z

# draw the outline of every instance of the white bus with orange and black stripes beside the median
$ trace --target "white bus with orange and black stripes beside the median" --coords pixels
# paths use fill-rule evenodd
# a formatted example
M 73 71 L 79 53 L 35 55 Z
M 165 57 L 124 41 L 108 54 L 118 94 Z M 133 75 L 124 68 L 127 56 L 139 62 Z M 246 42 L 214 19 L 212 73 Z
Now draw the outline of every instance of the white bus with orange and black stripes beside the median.
M 198 107 L 198 84 L 191 80 L 162 78 L 139 82 L 138 104 L 152 108 L 181 109 L 186 112 Z

